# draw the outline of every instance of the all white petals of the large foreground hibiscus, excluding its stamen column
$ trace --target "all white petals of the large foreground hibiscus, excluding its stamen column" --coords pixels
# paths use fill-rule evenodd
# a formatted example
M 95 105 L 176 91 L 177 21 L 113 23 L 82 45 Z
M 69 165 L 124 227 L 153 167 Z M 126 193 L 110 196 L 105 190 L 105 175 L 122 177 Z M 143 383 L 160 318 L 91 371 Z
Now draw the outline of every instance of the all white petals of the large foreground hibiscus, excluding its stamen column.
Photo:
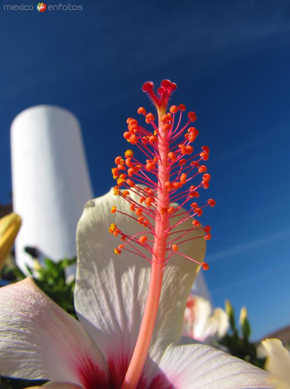
M 109 194 L 88 202 L 78 224 L 75 307 L 79 321 L 50 300 L 31 279 L 0 288 L 0 374 L 46 379 L 53 389 L 119 389 L 144 310 L 150 264 L 134 254 L 114 256 L 108 224 Z M 134 221 L 115 220 L 128 233 Z M 204 240 L 183 246 L 203 259 Z M 265 372 L 192 339 L 179 338 L 198 266 L 172 256 L 164 271 L 160 309 L 138 389 L 271 388 Z M 218 332 L 218 331 L 217 331 Z

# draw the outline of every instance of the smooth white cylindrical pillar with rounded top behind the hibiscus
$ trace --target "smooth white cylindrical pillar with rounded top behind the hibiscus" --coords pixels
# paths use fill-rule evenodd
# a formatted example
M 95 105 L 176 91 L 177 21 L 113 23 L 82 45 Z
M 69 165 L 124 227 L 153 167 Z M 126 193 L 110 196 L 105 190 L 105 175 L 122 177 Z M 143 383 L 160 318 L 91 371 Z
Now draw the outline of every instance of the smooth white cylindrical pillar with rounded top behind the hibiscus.
M 24 110 L 11 125 L 11 147 L 13 208 L 22 218 L 16 261 L 26 272 L 26 246 L 55 262 L 75 255 L 76 225 L 93 195 L 80 124 L 68 110 Z

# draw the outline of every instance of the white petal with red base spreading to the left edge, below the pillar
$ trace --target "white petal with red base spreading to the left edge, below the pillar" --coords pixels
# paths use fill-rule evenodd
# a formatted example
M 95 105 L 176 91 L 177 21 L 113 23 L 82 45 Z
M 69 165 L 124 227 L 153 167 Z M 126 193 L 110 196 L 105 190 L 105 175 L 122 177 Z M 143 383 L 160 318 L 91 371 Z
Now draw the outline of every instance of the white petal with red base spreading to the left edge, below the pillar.
M 81 324 L 30 279 L 0 288 L 0 374 L 84 384 L 106 362 Z

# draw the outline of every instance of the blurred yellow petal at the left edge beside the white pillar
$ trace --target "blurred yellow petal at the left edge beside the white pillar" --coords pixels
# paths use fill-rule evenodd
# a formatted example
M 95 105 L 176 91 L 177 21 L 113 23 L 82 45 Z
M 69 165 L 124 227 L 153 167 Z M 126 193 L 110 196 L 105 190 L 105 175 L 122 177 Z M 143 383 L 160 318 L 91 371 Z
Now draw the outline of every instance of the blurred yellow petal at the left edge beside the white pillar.
M 21 218 L 15 212 L 0 219 L 0 268 L 13 246 L 20 226 Z

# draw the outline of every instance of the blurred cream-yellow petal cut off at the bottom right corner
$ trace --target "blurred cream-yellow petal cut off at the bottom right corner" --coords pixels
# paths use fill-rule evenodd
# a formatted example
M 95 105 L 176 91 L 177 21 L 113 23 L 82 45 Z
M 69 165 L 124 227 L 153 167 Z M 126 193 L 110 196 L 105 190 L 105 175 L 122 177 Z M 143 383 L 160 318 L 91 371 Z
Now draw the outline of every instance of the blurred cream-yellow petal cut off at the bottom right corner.
M 258 353 L 266 357 L 265 369 L 270 372 L 267 383 L 277 389 L 290 389 L 290 354 L 280 339 L 265 339 Z

